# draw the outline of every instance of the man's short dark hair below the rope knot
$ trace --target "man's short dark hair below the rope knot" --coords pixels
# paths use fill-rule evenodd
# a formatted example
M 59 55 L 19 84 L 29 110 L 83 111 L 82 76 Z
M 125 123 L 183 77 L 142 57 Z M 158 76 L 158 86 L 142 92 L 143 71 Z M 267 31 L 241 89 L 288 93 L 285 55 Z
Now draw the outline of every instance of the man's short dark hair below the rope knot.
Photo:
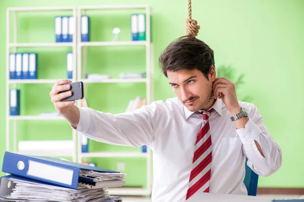
M 211 66 L 214 66 L 214 53 L 200 39 L 182 36 L 168 45 L 161 54 L 159 63 L 166 77 L 168 77 L 167 71 L 197 69 L 208 79 Z

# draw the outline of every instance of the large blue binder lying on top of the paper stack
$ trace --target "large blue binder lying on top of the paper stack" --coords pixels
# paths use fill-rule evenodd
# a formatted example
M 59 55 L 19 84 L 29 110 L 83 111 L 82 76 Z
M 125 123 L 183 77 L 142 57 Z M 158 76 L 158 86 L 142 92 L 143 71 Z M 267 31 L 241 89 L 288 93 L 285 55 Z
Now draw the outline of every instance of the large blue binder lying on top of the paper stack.
M 26 156 L 9 151 L 4 154 L 2 166 L 4 173 L 72 189 L 77 189 L 81 169 L 101 173 L 119 173 L 62 159 Z

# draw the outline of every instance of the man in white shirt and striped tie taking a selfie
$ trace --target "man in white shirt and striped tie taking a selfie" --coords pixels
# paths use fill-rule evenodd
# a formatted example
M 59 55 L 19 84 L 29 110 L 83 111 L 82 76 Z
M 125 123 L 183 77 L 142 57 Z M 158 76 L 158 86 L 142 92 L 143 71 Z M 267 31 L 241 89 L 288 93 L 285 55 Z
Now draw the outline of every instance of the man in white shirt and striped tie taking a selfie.
M 216 78 L 213 55 L 194 37 L 172 42 L 160 64 L 177 97 L 133 113 L 112 115 L 59 102 L 70 95 L 58 94 L 69 89 L 68 80 L 58 81 L 50 95 L 57 112 L 87 137 L 153 149 L 153 201 L 185 201 L 196 192 L 247 194 L 245 157 L 254 172 L 269 176 L 281 166 L 281 149 L 256 107 L 238 101 L 231 81 Z

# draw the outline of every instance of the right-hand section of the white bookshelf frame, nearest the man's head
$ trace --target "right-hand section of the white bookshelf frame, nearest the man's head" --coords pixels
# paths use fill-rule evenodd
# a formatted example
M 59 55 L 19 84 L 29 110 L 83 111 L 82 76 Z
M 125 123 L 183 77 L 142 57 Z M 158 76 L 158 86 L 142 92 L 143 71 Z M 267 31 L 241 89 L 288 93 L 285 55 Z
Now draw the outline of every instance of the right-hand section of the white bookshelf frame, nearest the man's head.
M 81 42 L 81 15 L 83 13 L 89 12 L 89 10 L 98 10 L 98 12 L 102 13 L 104 10 L 113 10 L 115 13 L 117 10 L 134 10 L 139 9 L 140 13 L 145 13 L 146 16 L 146 40 L 145 41 L 93 41 L 93 42 Z M 142 85 L 146 86 L 146 103 L 150 104 L 154 100 L 154 82 L 153 82 L 153 44 L 150 43 L 150 8 L 148 5 L 122 5 L 122 6 L 83 6 L 78 7 L 78 51 L 77 51 L 77 80 L 81 80 L 84 83 L 142 83 Z M 94 27 L 91 27 L 94 29 Z M 111 78 L 111 79 L 102 79 L 102 80 L 89 80 L 83 79 L 83 73 L 87 73 L 87 47 L 89 46 L 143 46 L 145 47 L 145 67 L 144 70 L 146 72 L 145 78 L 132 78 L 132 79 L 121 79 L 121 78 Z M 87 97 L 86 95 L 86 87 L 85 87 L 85 97 L 90 99 L 91 95 Z M 114 95 L 113 95 L 114 96 Z M 80 106 L 80 102 L 78 102 Z M 127 106 L 126 106 L 127 107 Z M 90 145 L 89 145 L 90 146 Z M 146 153 L 142 153 L 141 151 L 132 152 L 132 151 L 120 151 L 120 152 L 89 152 L 82 153 L 82 145 L 81 145 L 81 134 L 78 135 L 78 162 L 81 163 L 84 158 L 144 158 L 146 160 L 146 188 L 141 187 L 121 187 L 121 188 L 110 188 L 109 193 L 112 195 L 146 195 L 149 196 L 151 194 L 151 150 L 147 148 Z

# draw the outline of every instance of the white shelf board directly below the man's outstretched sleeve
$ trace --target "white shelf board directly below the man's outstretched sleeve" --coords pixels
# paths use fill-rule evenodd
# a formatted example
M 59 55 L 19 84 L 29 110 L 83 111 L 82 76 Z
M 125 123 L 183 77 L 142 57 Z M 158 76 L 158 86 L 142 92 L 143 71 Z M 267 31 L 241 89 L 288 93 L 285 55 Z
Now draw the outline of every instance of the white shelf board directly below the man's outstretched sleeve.
M 89 152 L 79 154 L 81 157 L 148 157 L 148 153 L 141 152 Z

